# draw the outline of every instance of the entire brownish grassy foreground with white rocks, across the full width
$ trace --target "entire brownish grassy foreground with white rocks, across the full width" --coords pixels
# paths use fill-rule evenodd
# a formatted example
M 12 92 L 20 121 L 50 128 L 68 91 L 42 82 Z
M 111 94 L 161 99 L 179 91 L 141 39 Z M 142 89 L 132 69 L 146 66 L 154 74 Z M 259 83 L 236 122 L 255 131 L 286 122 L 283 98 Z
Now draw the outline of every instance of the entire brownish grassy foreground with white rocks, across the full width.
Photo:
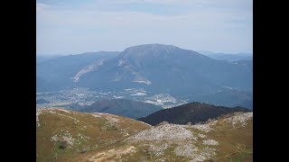
M 37 161 L 253 161 L 253 112 L 156 126 L 107 113 L 36 113 Z

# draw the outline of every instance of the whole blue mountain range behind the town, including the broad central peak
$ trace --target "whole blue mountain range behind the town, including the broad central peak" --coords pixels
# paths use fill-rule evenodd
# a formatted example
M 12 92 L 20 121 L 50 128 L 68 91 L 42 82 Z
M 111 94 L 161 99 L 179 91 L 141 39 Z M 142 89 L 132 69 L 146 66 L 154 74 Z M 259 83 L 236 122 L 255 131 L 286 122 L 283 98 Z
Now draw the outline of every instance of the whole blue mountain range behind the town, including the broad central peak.
M 68 87 L 117 92 L 141 88 L 189 102 L 247 106 L 252 105 L 252 65 L 213 59 L 172 45 L 145 44 L 122 52 L 85 53 L 42 61 L 36 65 L 36 82 L 40 82 L 38 92 Z M 228 102 L 227 96 L 234 97 L 229 97 Z

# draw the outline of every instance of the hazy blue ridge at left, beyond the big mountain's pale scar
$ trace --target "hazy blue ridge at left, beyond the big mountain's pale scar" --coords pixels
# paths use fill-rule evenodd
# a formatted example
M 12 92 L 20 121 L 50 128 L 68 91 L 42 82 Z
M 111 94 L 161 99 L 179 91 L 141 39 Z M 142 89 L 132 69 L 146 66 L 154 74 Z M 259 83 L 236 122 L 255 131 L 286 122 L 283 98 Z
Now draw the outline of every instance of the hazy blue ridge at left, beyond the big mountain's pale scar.
M 118 52 L 87 52 L 79 55 L 61 56 L 55 58 L 47 58 L 36 63 L 36 77 L 50 85 L 46 85 L 45 89 L 62 89 L 73 85 L 73 76 L 76 76 L 79 70 L 87 67 L 91 63 L 106 61 L 109 58 L 116 57 Z M 41 79 L 40 79 L 41 78 Z M 37 80 L 36 80 L 37 83 Z M 38 92 L 41 92 L 42 86 L 38 85 Z

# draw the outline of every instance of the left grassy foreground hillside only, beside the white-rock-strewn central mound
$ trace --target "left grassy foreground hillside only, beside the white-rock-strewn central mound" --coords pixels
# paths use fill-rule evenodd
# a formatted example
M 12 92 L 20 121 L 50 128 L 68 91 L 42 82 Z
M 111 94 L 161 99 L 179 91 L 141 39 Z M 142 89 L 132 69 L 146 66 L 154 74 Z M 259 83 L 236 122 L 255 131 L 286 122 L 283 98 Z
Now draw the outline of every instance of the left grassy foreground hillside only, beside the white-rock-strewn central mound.
M 113 114 L 42 109 L 36 111 L 36 159 L 77 161 L 79 154 L 117 146 L 120 140 L 149 127 Z

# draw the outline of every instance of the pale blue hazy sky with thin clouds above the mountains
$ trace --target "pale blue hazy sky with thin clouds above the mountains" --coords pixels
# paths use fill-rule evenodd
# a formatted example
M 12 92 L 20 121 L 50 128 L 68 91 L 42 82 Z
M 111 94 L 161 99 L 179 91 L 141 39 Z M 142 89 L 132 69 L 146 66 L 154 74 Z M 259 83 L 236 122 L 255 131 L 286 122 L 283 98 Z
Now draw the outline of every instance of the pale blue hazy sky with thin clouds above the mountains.
M 121 51 L 148 43 L 253 51 L 253 0 L 37 0 L 36 52 Z

